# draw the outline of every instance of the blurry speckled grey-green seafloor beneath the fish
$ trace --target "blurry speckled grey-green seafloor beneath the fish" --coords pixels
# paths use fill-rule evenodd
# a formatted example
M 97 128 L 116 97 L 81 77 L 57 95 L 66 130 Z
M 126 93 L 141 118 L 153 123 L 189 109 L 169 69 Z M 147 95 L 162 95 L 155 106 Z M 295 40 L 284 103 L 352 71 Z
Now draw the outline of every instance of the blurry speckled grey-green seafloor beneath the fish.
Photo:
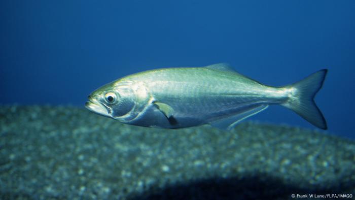
M 297 127 L 166 130 L 81 108 L 1 106 L 0 136 L 0 199 L 355 195 L 355 142 Z

